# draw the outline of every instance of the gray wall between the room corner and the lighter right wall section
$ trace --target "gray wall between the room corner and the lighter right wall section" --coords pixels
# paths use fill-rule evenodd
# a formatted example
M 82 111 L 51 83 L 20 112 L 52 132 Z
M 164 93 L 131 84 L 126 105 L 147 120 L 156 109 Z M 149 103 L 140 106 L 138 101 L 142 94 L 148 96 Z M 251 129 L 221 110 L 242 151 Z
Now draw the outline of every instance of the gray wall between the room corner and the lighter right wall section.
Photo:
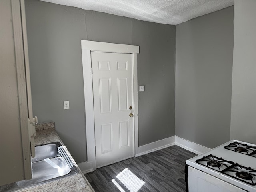
M 233 6 L 176 26 L 176 136 L 213 148 L 230 139 Z

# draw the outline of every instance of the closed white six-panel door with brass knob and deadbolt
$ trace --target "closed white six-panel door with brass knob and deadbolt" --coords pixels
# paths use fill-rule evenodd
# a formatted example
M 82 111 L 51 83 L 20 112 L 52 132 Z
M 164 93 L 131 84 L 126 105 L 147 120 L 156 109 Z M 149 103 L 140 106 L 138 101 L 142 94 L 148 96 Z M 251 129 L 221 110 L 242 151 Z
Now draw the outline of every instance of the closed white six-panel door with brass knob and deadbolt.
M 96 168 L 134 156 L 132 54 L 92 52 Z

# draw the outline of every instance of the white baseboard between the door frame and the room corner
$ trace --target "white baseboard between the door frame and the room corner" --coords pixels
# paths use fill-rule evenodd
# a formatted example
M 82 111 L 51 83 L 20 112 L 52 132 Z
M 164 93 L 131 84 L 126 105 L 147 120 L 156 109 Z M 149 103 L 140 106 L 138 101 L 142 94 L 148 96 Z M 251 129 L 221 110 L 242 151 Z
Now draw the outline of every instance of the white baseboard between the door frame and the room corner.
M 136 157 L 175 145 L 175 136 L 138 147 Z

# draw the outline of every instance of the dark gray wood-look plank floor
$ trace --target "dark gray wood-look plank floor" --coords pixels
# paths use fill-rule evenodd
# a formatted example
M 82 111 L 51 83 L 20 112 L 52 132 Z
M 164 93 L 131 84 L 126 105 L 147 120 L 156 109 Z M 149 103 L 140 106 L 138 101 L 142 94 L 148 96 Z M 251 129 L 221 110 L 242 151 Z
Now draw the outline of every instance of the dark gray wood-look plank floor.
M 174 145 L 98 168 L 84 175 L 96 192 L 120 192 L 112 179 L 115 179 L 126 192 L 130 192 L 116 178 L 116 175 L 125 168 L 145 182 L 138 192 L 184 192 L 186 191 L 185 162 L 194 156 L 196 154 Z

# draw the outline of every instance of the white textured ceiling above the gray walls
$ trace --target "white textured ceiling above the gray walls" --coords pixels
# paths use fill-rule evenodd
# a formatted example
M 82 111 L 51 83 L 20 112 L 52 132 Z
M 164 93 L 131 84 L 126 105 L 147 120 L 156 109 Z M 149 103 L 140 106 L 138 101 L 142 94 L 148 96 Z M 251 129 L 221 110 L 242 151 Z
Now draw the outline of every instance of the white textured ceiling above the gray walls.
M 177 25 L 234 4 L 234 0 L 42 0 L 143 21 Z

